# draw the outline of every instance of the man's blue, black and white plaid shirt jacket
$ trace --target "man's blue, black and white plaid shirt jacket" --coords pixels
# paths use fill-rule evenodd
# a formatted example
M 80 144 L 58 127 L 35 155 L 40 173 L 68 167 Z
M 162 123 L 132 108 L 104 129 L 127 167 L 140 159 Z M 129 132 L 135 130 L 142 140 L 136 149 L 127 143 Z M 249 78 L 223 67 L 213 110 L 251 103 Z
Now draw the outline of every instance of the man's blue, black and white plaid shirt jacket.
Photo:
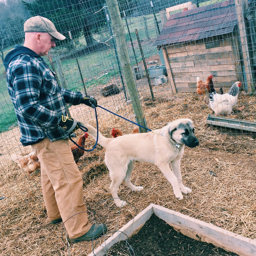
M 23 146 L 45 137 L 51 141 L 68 138 L 58 125 L 61 115 L 67 115 L 65 103 L 80 104 L 85 95 L 60 89 L 42 57 L 22 54 L 12 60 L 7 69 L 7 86 Z

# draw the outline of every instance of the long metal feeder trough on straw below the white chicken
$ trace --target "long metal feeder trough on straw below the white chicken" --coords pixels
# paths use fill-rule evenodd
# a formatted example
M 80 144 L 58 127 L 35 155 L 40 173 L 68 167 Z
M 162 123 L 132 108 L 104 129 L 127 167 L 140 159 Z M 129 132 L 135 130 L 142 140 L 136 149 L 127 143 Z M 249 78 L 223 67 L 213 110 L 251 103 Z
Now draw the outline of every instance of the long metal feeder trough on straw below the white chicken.
M 233 119 L 222 116 L 207 116 L 207 124 L 217 125 L 221 127 L 233 128 L 248 132 L 256 132 L 256 122 L 241 119 Z

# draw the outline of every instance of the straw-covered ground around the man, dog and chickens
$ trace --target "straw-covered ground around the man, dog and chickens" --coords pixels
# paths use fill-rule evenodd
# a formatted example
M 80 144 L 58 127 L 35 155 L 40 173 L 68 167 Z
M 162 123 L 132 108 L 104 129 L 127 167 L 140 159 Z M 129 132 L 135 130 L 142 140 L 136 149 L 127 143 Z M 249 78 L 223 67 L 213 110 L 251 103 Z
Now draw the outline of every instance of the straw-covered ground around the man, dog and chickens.
M 143 85 L 143 86 L 142 86 Z M 141 87 L 140 87 L 141 86 Z M 149 99 L 147 82 L 139 83 L 139 92 L 147 125 L 157 129 L 178 118 L 191 118 L 196 129 L 200 145 L 196 148 L 185 147 L 181 161 L 182 177 L 185 186 L 193 192 L 179 201 L 175 198 L 172 186 L 154 164 L 136 163 L 132 181 L 136 186 L 144 187 L 140 193 L 134 193 L 123 184 L 119 188 L 119 196 L 129 204 L 121 210 L 111 199 L 109 192 L 110 178 L 104 164 L 105 149 L 97 145 L 90 153 L 80 159 L 79 169 L 84 180 L 84 202 L 90 212 L 92 223 L 104 222 L 108 225 L 107 239 L 118 228 L 131 220 L 149 204 L 154 203 L 168 209 L 187 214 L 207 223 L 256 239 L 256 138 L 253 134 L 241 131 L 225 130 L 210 127 L 206 124 L 211 109 L 194 94 L 172 94 L 168 84 L 153 87 L 156 100 Z M 146 89 L 145 89 L 146 88 Z M 168 92 L 168 93 L 167 93 Z M 97 95 L 97 92 L 95 92 Z M 115 105 L 119 95 L 103 98 L 98 93 L 99 104 L 112 106 L 126 118 L 132 116 L 132 106 Z M 113 102 L 113 103 L 111 103 Z M 240 93 L 238 107 L 231 118 L 255 120 L 256 99 Z M 93 110 L 83 106 L 72 106 L 71 115 L 84 120 L 91 117 L 90 124 L 96 127 Z M 85 118 L 86 117 L 86 118 Z M 88 118 L 89 118 L 88 117 Z M 122 121 L 98 109 L 99 130 L 110 137 L 113 127 L 124 134 L 132 132 L 133 125 Z M 82 131 L 77 132 L 77 137 Z M 104 242 L 98 239 L 93 244 L 83 242 L 67 247 L 62 225 L 52 226 L 47 213 L 41 191 L 40 171 L 28 178 L 25 171 L 12 163 L 10 153 L 13 144 L 19 144 L 17 128 L 1 134 L 0 156 L 0 255 L 87 255 L 92 246 Z M 94 140 L 89 136 L 87 147 L 92 148 Z M 5 149 L 8 148 L 8 149 Z M 20 147 L 22 154 L 29 148 Z M 17 152 L 19 153 L 19 152 Z

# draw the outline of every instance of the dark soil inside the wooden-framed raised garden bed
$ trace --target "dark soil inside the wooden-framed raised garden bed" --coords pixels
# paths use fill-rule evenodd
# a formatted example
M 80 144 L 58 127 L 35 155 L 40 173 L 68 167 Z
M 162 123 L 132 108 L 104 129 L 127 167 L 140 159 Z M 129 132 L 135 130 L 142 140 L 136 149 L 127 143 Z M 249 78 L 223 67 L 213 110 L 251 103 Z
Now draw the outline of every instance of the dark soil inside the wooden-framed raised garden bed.
M 127 241 L 114 244 L 110 256 L 237 256 L 213 244 L 197 241 L 174 230 L 164 220 L 152 214 L 140 231 Z

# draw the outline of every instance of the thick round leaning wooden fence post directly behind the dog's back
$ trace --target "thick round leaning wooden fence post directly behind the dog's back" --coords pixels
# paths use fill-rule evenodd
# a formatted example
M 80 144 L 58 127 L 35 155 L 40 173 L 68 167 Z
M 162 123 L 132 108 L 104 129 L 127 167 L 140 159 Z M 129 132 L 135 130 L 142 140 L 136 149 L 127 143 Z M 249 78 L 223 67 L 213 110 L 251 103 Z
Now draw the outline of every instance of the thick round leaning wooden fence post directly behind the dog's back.
M 143 116 L 142 107 L 140 105 L 140 98 L 132 74 L 132 66 L 130 63 L 128 50 L 125 42 L 124 25 L 121 20 L 117 0 L 106 0 L 106 3 L 112 21 L 112 26 L 115 32 L 116 49 L 124 72 L 124 78 L 130 94 L 130 98 L 132 101 L 132 108 L 138 124 L 147 127 L 146 120 Z M 140 127 L 140 132 L 147 132 L 147 130 L 145 128 Z

